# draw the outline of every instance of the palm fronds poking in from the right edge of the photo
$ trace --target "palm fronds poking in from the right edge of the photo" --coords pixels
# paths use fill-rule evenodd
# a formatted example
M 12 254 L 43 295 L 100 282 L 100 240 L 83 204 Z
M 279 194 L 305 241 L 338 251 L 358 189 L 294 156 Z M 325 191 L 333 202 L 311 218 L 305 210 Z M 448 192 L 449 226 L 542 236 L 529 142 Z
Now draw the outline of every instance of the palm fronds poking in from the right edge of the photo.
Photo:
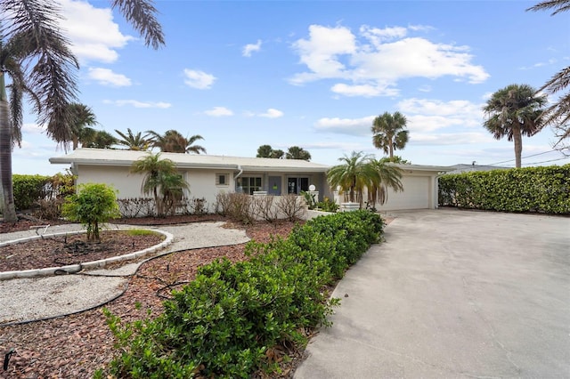
M 570 0 L 543 1 L 527 9 L 527 11 L 535 12 L 544 10 L 553 10 L 552 16 L 559 12 L 570 11 Z M 554 94 L 564 90 L 568 85 L 570 85 L 570 66 L 558 71 L 538 91 Z M 554 145 L 555 148 L 560 146 L 560 149 L 568 149 L 568 146 L 564 146 L 563 140 L 570 138 L 570 92 L 562 94 L 557 102 L 546 109 L 544 123 L 553 125 L 555 129 L 555 133 L 558 136 L 558 142 Z

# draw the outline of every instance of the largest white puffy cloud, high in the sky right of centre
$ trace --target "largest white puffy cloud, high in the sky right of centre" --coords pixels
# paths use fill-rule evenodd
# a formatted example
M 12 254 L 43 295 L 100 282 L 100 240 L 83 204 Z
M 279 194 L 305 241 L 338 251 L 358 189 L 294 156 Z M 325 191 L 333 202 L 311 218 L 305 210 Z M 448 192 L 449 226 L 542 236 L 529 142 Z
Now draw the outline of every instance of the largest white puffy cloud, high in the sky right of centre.
M 320 79 L 342 83 L 331 90 L 347 96 L 394 96 L 398 81 L 409 77 L 451 76 L 476 84 L 489 74 L 471 63 L 468 46 L 433 43 L 408 30 L 426 31 L 427 27 L 372 28 L 364 25 L 355 35 L 346 27 L 311 25 L 309 36 L 292 47 L 308 71 L 289 79 L 303 85 Z

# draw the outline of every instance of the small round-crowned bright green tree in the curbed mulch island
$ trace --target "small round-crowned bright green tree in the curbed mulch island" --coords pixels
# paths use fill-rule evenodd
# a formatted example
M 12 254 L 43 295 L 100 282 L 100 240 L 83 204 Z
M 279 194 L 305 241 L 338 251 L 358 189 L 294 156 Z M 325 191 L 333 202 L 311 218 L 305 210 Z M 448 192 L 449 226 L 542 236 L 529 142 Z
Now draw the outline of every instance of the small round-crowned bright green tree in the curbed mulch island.
M 78 193 L 66 199 L 62 214 L 87 228 L 87 240 L 99 240 L 100 224 L 120 216 L 116 190 L 102 183 L 79 184 Z

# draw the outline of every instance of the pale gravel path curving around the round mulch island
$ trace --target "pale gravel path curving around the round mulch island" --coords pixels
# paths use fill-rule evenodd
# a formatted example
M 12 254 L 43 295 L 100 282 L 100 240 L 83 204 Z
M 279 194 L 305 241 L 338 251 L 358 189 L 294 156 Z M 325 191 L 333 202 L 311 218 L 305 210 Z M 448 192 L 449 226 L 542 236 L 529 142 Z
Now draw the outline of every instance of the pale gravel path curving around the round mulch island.
M 175 236 L 172 245 L 154 256 L 248 242 L 244 230 L 227 229 L 224 224 L 225 222 L 198 222 L 151 228 L 165 230 Z M 126 228 L 126 225 L 120 227 Z M 80 225 L 68 224 L 58 225 L 50 231 L 77 230 L 81 230 Z M 0 242 L 34 235 L 35 230 L 4 233 L 0 236 Z M 78 275 L 2 280 L 0 325 L 63 316 L 109 302 L 125 291 L 128 277 L 134 274 L 141 263 L 127 264 L 112 270 L 83 271 Z

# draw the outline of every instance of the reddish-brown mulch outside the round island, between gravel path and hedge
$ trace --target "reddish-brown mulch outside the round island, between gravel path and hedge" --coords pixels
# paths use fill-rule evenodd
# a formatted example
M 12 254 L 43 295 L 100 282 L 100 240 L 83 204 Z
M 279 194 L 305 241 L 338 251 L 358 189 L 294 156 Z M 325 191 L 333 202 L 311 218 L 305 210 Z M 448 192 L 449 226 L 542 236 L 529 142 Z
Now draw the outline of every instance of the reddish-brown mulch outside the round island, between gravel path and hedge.
M 141 225 L 164 225 L 198 221 L 224 221 L 219 216 L 180 216 L 167 219 L 140 219 Z M 125 223 L 133 224 L 134 220 Z M 18 222 L 20 223 L 20 222 Z M 27 222 L 7 228 L 4 231 L 28 230 Z M 10 224 L 7 224 L 10 225 Z M 294 227 L 292 222 L 257 223 L 253 226 L 231 224 L 233 228 L 245 229 L 249 238 L 267 242 L 272 236 L 286 237 Z M 8 229 L 8 230 L 6 230 Z M 2 229 L 0 229 L 2 230 Z M 197 269 L 226 257 L 232 262 L 247 259 L 245 245 L 221 246 L 195 249 L 167 254 L 142 264 L 131 278 L 126 293 L 105 305 L 123 321 L 134 321 L 156 317 L 163 308 L 162 302 L 171 289 L 191 281 Z M 87 378 L 97 368 L 110 362 L 116 351 L 114 339 L 105 324 L 101 308 L 88 310 L 72 316 L 50 319 L 28 324 L 0 327 L 0 358 L 11 349 L 12 355 L 6 371 L 0 370 L 0 378 Z M 301 361 L 301 353 L 283 367 L 284 375 L 291 377 L 294 368 Z M 275 376 L 279 377 L 279 376 Z

